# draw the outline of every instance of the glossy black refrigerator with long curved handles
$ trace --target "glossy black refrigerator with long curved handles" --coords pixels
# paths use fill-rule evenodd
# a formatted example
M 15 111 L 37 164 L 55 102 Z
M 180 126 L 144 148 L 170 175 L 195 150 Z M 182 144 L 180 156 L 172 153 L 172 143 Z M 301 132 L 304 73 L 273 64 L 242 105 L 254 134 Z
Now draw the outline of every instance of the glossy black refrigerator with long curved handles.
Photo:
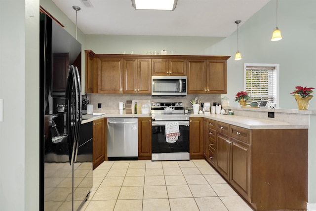
M 40 211 L 77 211 L 92 188 L 92 141 L 79 146 L 78 68 L 81 44 L 40 13 Z

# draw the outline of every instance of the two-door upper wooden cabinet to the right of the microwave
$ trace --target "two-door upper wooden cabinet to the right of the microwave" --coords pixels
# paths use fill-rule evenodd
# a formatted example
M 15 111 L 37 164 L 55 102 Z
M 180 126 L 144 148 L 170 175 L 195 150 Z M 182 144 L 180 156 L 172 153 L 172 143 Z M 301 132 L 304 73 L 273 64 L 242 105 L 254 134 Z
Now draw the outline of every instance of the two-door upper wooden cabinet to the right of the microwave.
M 226 93 L 228 58 L 188 59 L 188 94 Z

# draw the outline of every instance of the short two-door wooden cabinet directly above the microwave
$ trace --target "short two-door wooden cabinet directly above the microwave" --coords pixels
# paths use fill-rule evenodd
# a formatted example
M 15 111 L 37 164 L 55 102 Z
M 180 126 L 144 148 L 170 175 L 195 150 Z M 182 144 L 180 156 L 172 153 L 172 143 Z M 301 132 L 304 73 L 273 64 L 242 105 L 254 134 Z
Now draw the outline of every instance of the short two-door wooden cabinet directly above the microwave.
M 153 76 L 186 76 L 186 59 L 152 59 Z

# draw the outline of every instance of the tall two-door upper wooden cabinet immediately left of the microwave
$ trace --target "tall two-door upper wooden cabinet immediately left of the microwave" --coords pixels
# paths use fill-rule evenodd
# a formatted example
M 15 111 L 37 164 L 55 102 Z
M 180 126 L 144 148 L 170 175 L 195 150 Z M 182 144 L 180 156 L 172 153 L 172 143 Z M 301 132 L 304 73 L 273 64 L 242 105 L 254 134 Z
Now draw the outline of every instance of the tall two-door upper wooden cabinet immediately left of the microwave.
M 123 93 L 150 94 L 151 59 L 124 59 L 123 61 Z

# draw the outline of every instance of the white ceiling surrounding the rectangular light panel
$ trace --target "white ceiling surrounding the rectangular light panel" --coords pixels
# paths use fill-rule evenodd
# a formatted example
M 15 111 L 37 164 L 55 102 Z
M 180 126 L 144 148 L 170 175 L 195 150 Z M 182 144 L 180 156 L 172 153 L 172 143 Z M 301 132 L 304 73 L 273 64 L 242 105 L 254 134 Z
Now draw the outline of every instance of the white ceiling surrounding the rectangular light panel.
M 228 37 L 270 0 L 178 0 L 174 11 L 135 10 L 131 0 L 52 0 L 84 34 Z

